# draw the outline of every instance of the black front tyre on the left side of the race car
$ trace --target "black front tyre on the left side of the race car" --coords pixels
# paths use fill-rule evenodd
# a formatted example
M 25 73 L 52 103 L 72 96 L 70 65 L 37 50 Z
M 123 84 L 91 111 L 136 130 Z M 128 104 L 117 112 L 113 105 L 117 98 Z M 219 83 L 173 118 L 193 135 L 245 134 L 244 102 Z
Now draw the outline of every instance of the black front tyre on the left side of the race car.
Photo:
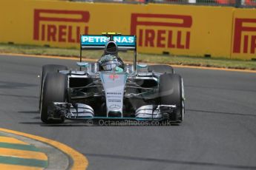
M 40 116 L 44 123 L 63 123 L 65 118 L 51 120 L 48 115 L 48 106 L 52 102 L 65 102 L 67 98 L 68 77 L 59 72 L 49 72 L 42 84 L 42 98 Z

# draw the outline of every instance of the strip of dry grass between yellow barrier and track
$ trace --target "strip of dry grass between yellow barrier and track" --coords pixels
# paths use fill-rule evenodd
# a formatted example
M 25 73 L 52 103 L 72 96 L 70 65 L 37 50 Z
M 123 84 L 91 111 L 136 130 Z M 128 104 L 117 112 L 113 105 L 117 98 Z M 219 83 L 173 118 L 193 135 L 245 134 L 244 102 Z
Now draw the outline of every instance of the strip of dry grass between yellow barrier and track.
M 40 47 L 17 44 L 0 44 L 1 53 L 19 53 L 31 55 L 58 55 L 66 57 L 78 57 L 79 50 L 77 49 L 62 49 L 54 47 Z M 102 51 L 84 51 L 83 58 L 99 59 Z M 131 52 L 122 52 L 119 54 L 124 61 L 133 61 Z M 219 67 L 230 69 L 254 69 L 256 70 L 256 61 L 228 60 L 223 58 L 203 58 L 203 57 L 188 57 L 174 55 L 149 55 L 138 54 L 139 62 L 147 62 L 154 64 L 176 64 L 187 66 L 200 67 Z

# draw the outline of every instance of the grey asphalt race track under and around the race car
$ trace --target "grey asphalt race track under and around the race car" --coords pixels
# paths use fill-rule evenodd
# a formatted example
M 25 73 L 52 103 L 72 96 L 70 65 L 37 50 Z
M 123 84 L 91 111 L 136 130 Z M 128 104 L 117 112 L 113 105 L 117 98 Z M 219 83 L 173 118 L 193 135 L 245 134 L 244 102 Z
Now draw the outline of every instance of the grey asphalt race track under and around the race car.
M 256 73 L 177 68 L 186 90 L 180 126 L 88 126 L 39 119 L 43 64 L 75 61 L 0 55 L 0 127 L 58 140 L 88 169 L 256 169 Z

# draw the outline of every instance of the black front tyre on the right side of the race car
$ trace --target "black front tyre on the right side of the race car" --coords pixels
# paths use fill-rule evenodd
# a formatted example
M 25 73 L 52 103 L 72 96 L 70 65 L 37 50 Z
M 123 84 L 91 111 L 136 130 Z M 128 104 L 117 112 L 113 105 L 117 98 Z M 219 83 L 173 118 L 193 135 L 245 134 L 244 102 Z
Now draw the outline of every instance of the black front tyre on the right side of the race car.
M 160 75 L 160 104 L 176 105 L 170 120 L 180 123 L 185 113 L 183 79 L 177 74 Z

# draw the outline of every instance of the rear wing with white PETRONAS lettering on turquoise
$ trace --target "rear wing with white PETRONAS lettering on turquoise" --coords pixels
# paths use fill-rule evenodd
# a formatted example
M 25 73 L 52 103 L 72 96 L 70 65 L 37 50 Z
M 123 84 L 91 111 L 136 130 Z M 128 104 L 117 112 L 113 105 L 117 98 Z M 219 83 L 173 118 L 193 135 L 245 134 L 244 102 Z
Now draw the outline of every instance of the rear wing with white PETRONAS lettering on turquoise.
M 102 35 L 80 36 L 80 62 L 82 50 L 104 50 L 108 41 L 115 41 L 119 51 L 134 50 L 134 70 L 137 64 L 137 38 L 136 35 L 121 35 L 119 33 L 103 33 Z

